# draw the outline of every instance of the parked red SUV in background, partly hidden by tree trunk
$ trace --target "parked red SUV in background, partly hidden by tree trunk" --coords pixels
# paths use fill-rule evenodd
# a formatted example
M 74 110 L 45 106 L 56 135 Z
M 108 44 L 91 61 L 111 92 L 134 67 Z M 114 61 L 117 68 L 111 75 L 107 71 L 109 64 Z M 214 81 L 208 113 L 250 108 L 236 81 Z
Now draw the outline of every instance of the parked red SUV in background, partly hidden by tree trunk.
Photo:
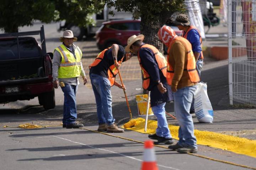
M 181 31 L 171 26 L 177 35 L 181 35 Z M 103 22 L 102 26 L 96 32 L 96 42 L 100 50 L 110 47 L 112 44 L 127 45 L 127 39 L 132 35 L 140 34 L 140 20 L 113 20 Z M 167 47 L 164 48 L 167 51 Z

